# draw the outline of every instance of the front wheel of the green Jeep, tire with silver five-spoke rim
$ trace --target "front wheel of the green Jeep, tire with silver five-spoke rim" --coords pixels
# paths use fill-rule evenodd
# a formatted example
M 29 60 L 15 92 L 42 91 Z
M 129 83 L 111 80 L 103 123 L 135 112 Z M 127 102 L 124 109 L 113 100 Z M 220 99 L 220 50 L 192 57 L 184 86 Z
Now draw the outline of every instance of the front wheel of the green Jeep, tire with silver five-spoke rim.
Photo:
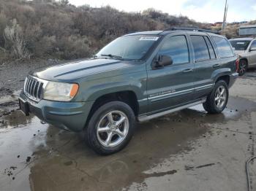
M 129 105 L 110 101 L 97 109 L 86 128 L 86 141 L 99 155 L 123 149 L 135 131 L 135 114 Z

